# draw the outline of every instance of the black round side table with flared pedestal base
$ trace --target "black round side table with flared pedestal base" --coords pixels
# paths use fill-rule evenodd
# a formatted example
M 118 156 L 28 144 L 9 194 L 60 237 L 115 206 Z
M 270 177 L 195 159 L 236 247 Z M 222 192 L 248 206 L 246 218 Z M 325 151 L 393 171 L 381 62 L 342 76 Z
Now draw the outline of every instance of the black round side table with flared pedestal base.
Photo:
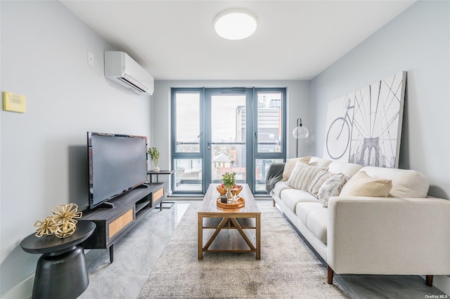
M 23 239 L 20 247 L 27 253 L 39 253 L 32 298 L 77 298 L 89 286 L 84 250 L 78 244 L 89 238 L 96 225 L 79 221 L 77 230 L 67 238 L 34 234 Z

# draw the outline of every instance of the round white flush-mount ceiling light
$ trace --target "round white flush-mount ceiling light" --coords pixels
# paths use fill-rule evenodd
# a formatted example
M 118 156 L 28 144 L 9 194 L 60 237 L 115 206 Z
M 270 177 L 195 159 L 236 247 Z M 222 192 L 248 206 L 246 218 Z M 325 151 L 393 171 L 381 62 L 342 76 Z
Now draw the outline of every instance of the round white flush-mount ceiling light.
M 254 13 L 245 9 L 233 8 L 222 11 L 214 18 L 214 30 L 224 39 L 245 39 L 252 35 L 257 27 Z

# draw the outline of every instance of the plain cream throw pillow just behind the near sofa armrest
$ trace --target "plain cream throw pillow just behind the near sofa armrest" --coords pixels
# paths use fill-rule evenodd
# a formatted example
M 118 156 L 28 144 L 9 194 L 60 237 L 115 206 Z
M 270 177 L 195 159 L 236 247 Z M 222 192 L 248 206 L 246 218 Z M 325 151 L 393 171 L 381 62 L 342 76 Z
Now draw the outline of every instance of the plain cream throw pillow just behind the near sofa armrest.
M 359 171 L 342 187 L 341 197 L 387 197 L 392 189 L 392 180 L 371 178 Z

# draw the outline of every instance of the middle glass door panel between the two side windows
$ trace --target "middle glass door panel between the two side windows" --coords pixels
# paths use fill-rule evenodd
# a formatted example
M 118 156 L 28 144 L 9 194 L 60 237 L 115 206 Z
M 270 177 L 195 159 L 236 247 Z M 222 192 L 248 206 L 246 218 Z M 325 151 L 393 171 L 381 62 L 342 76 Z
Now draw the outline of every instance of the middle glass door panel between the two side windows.
M 248 131 L 245 89 L 206 89 L 207 181 L 217 183 L 224 173 L 236 173 L 236 182 L 248 182 Z M 251 147 L 250 147 L 251 149 Z

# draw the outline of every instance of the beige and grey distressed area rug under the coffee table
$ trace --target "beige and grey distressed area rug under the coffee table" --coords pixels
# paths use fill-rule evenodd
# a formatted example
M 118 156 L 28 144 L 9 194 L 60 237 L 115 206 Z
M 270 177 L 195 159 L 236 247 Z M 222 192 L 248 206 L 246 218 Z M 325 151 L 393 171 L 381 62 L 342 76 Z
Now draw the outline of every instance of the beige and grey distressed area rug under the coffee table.
M 326 267 L 271 202 L 259 204 L 261 260 L 255 253 L 198 260 L 199 207 L 188 207 L 138 298 L 349 298 L 326 283 Z

